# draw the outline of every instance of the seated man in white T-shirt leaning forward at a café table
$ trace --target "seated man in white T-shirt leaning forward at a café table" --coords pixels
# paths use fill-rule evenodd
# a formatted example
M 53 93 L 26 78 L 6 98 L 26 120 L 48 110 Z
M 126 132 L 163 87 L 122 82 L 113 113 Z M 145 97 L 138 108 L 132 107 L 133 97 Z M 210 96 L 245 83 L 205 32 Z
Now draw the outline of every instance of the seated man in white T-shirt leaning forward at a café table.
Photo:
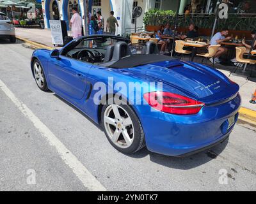
M 221 32 L 214 34 L 214 36 L 211 39 L 211 45 L 218 45 L 223 41 L 230 40 L 231 37 L 230 36 L 226 37 L 227 35 L 228 35 L 228 29 L 222 29 Z M 225 54 L 226 52 L 227 52 L 227 48 L 222 46 L 219 47 L 218 51 L 215 54 L 214 59 L 212 57 L 210 58 L 210 61 L 213 63 L 213 60 L 214 60 L 214 63 L 220 63 L 220 59 L 219 59 L 220 55 Z

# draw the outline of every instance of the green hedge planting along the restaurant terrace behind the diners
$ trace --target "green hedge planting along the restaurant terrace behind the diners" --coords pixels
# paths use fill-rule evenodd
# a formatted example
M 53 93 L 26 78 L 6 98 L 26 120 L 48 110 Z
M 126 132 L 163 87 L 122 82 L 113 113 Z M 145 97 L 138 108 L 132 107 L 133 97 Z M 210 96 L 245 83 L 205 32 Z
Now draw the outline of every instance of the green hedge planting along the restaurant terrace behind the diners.
M 188 27 L 193 23 L 200 28 L 212 29 L 214 15 L 179 15 L 178 26 Z M 145 25 L 162 25 L 170 22 L 175 24 L 174 11 L 149 10 L 143 18 Z M 230 14 L 228 19 L 218 19 L 217 29 L 227 27 L 230 30 L 252 31 L 256 29 L 255 16 L 244 17 L 241 15 Z

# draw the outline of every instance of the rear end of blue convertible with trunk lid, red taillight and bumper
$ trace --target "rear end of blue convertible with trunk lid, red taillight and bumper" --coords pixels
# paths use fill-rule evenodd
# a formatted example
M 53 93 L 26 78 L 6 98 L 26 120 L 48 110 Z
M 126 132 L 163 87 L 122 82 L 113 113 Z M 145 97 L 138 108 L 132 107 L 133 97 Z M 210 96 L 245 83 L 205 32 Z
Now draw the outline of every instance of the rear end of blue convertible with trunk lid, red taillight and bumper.
M 136 106 L 148 150 L 188 156 L 232 132 L 241 105 L 239 86 L 216 69 L 165 61 L 132 68 L 132 73 L 163 82 L 163 91 L 144 92 L 147 106 Z

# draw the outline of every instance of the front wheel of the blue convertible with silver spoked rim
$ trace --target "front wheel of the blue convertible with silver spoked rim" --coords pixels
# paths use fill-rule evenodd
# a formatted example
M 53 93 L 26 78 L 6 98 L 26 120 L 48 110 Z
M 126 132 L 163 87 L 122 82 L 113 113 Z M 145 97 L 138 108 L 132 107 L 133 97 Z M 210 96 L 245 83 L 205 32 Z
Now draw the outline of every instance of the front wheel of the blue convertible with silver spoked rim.
M 42 65 L 40 62 L 36 59 L 33 62 L 33 73 L 36 81 L 36 85 L 39 89 L 42 91 L 48 91 L 45 75 L 44 75 L 44 69 L 42 68 Z

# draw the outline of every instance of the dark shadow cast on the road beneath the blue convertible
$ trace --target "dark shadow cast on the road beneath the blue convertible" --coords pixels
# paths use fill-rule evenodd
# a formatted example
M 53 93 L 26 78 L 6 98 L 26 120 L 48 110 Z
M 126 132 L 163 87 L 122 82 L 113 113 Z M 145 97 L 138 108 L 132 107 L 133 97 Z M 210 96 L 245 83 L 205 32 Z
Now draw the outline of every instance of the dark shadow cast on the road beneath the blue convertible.
M 99 126 L 99 124 L 95 123 L 92 119 L 90 119 L 87 115 L 85 115 L 81 110 L 76 108 L 76 106 L 72 105 L 71 103 L 68 103 L 68 101 L 65 101 L 65 99 L 61 98 L 60 96 L 53 94 L 58 99 L 66 103 L 68 106 L 74 108 L 77 110 L 77 112 L 81 113 L 86 119 L 90 120 L 94 126 L 99 128 L 101 131 L 103 131 L 102 127 Z M 212 147 L 209 150 L 205 150 L 204 152 L 200 152 L 198 154 L 194 154 L 192 156 L 179 158 L 179 157 L 171 157 L 171 156 L 164 156 L 162 154 L 157 154 L 154 152 L 150 152 L 147 150 L 147 148 L 143 148 L 140 151 L 131 154 L 126 155 L 135 159 L 143 158 L 149 155 L 150 161 L 166 166 L 168 168 L 175 168 L 180 170 L 189 170 L 191 168 L 195 168 L 196 166 L 201 166 L 202 164 L 205 164 L 212 159 L 216 159 L 219 154 L 225 149 L 225 147 L 228 144 L 228 139 L 225 140 L 223 143 L 220 143 L 216 145 L 215 147 Z

